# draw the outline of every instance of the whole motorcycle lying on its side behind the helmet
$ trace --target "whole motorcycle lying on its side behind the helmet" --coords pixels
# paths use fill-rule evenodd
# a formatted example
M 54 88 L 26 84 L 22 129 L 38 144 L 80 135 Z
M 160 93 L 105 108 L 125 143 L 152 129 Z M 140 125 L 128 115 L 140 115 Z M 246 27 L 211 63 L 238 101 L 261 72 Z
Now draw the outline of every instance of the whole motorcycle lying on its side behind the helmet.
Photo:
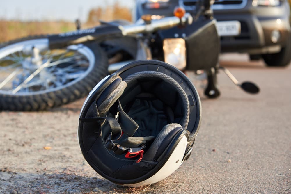
M 210 1 L 201 2 L 194 18 L 179 7 L 176 16 L 145 15 L 135 24 L 102 22 L 91 29 L 78 24 L 77 31 L 0 45 L 0 110 L 36 111 L 72 102 L 109 72 L 142 59 L 162 60 L 180 70 L 206 70 L 205 94 L 217 97 L 220 41 Z M 251 83 L 237 85 L 257 91 Z

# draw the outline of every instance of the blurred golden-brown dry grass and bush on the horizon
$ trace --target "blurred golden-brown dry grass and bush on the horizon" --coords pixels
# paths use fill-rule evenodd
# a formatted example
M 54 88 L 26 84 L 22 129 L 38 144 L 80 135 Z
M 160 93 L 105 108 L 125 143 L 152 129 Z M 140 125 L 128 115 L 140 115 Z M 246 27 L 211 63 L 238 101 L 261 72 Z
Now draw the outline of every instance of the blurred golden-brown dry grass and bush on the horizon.
M 131 11 L 116 2 L 106 8 L 93 8 L 88 13 L 88 19 L 82 28 L 93 27 L 99 24 L 99 20 L 110 21 L 113 19 L 131 20 Z M 67 21 L 7 21 L 0 19 L 0 42 L 7 42 L 16 38 L 30 35 L 61 33 L 75 30 L 74 22 Z

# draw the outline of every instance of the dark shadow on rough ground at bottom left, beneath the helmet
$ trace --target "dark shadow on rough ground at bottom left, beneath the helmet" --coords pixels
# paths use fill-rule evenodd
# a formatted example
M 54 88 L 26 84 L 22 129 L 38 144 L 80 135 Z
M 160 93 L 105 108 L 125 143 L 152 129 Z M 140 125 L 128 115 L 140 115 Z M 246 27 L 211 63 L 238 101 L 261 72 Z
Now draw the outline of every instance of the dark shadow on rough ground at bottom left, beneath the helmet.
M 4 170 L 0 172 L 0 181 L 4 193 L 143 193 L 153 189 L 153 186 L 129 188 L 73 172 L 34 174 Z

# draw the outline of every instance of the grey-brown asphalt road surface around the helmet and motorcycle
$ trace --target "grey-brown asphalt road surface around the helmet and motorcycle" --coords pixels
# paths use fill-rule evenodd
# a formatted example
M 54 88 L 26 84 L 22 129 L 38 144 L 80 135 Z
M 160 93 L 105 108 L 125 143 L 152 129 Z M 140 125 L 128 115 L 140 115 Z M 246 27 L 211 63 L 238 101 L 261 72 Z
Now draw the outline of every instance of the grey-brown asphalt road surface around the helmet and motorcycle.
M 168 178 L 128 188 L 100 177 L 77 142 L 81 99 L 52 111 L 0 112 L 0 193 L 291 193 L 291 65 L 222 58 L 261 91 L 246 94 L 221 72 L 221 96 L 207 99 L 205 81 L 188 73 L 203 118 L 192 155 Z

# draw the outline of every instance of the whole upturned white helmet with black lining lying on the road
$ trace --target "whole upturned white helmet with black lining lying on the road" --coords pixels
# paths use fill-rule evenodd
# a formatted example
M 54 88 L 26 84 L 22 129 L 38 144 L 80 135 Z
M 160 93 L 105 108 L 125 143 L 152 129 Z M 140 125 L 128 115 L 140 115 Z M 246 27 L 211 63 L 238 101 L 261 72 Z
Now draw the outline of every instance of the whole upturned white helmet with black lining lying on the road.
M 161 61 L 141 60 L 90 92 L 78 138 L 84 158 L 101 176 L 142 186 L 166 178 L 188 159 L 200 118 L 200 98 L 185 74 Z

